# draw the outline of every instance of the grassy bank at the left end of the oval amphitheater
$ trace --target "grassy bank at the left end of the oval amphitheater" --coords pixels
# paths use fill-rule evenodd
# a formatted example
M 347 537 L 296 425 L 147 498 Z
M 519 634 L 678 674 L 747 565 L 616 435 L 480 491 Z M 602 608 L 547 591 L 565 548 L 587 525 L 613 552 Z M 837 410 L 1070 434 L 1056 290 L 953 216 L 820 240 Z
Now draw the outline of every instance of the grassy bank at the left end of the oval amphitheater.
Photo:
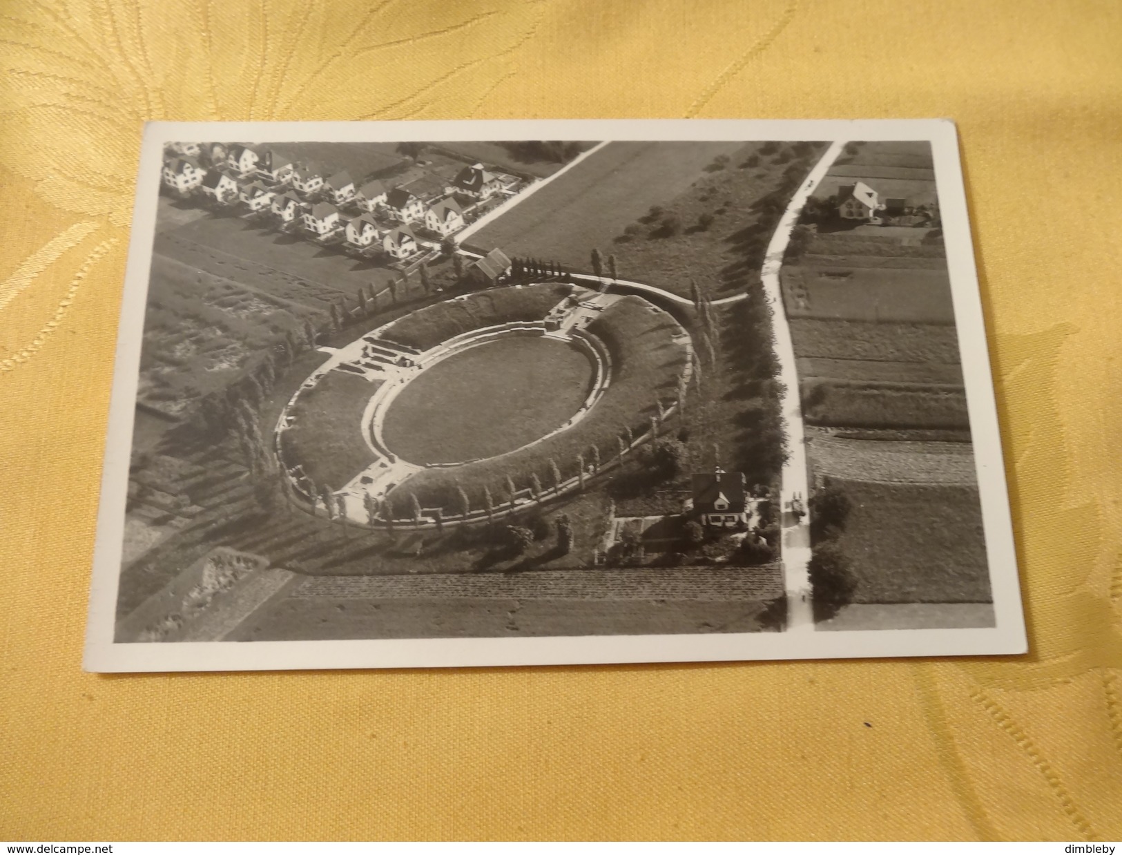
M 285 459 L 300 462 L 318 488 L 341 489 L 374 462 L 362 439 L 362 413 L 381 381 L 346 371 L 328 371 L 302 390 L 280 434 Z

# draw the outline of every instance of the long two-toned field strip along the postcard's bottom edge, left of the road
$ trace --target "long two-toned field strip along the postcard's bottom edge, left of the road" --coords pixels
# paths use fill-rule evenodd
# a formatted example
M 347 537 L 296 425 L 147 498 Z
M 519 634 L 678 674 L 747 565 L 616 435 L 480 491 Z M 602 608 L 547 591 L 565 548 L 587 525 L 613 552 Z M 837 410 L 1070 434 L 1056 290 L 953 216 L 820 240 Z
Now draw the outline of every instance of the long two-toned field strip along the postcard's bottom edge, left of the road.
M 765 615 L 781 592 L 772 576 L 710 567 L 313 578 L 230 638 L 754 632 L 774 628 Z

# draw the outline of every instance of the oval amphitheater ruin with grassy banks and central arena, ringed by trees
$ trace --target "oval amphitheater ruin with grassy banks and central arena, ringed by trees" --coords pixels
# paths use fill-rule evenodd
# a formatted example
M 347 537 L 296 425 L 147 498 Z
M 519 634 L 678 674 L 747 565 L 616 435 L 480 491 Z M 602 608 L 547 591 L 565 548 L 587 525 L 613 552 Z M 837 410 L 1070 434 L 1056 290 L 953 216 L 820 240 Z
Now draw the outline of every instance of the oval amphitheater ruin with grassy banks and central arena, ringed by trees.
M 579 353 L 583 368 L 559 348 Z M 555 282 L 456 296 L 328 352 L 282 412 L 275 449 L 293 500 L 359 526 L 490 522 L 561 500 L 670 430 L 693 373 L 689 333 L 664 310 L 641 296 Z M 505 390 L 504 378 L 525 380 L 535 361 L 567 371 L 535 376 L 523 389 L 542 406 L 477 397 L 465 383 L 465 371 L 488 371 L 490 388 Z M 422 377 L 433 383 L 413 394 Z M 457 412 L 441 411 L 442 383 L 454 384 L 445 390 Z M 539 414 L 554 421 L 535 422 Z M 342 451 L 318 442 L 330 420 L 352 438 Z M 512 420 L 516 430 L 507 430 Z M 517 444 L 504 445 L 512 438 Z M 493 453 L 445 459 L 473 444 Z M 399 445 L 422 453 L 407 459 Z

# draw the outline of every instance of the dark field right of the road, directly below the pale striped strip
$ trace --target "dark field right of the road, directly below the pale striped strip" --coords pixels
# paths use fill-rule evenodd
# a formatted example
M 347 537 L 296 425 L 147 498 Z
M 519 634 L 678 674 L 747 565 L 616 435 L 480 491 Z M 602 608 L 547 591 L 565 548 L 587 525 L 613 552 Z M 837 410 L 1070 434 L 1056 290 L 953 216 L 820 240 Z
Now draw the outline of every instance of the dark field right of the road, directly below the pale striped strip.
M 854 603 L 990 603 L 977 489 L 835 480 L 852 503 L 839 545 Z

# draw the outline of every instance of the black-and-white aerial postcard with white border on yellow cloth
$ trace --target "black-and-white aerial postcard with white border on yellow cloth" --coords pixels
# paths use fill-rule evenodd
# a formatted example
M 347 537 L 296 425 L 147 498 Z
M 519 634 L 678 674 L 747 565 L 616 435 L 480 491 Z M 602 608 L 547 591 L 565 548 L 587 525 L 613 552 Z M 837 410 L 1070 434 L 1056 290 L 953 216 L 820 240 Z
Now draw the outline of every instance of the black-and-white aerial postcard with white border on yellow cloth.
M 1018 653 L 954 126 L 151 123 L 94 671 Z

